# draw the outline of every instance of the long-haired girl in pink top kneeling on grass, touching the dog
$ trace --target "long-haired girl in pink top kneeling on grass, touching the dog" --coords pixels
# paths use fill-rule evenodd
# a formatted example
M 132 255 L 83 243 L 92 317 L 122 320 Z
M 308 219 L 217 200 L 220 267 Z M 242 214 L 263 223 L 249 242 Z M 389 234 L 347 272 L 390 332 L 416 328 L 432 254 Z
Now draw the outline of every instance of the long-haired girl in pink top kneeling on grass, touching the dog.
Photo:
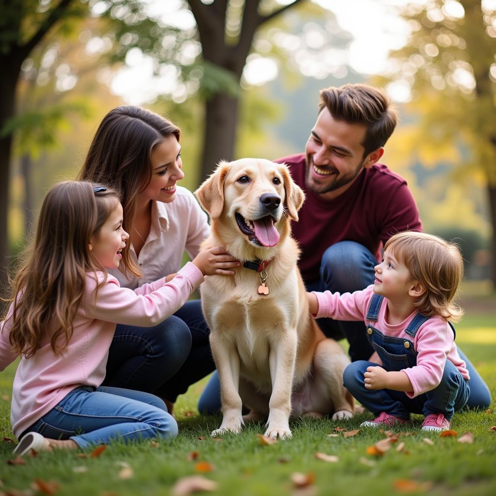
M 156 325 L 175 312 L 205 274 L 232 272 L 220 247 L 201 251 L 174 279 L 121 288 L 107 269 L 137 274 L 115 190 L 65 182 L 47 194 L 33 247 L 1 322 L 0 370 L 18 355 L 11 421 L 15 452 L 86 448 L 122 437 L 177 435 L 164 402 L 149 393 L 101 386 L 116 323 Z M 153 334 L 153 330 L 148 330 Z

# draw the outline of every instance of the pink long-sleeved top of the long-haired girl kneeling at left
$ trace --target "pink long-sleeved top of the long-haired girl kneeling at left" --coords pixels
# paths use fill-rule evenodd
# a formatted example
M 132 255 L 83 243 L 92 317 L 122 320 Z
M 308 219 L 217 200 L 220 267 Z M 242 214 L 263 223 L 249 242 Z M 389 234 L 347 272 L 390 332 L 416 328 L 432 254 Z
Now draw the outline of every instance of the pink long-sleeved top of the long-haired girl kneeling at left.
M 99 272 L 98 281 L 104 274 Z M 98 289 L 93 274 L 86 278 L 86 290 L 73 322 L 73 334 L 62 355 L 55 356 L 47 337 L 33 357 L 21 358 L 15 373 L 10 420 L 16 436 L 54 408 L 72 389 L 98 387 L 105 378 L 109 347 L 116 324 L 151 327 L 179 310 L 203 275 L 191 262 L 166 283 L 165 278 L 135 290 L 121 288 L 112 275 Z M 0 371 L 13 362 L 9 342 L 11 320 L 0 324 Z

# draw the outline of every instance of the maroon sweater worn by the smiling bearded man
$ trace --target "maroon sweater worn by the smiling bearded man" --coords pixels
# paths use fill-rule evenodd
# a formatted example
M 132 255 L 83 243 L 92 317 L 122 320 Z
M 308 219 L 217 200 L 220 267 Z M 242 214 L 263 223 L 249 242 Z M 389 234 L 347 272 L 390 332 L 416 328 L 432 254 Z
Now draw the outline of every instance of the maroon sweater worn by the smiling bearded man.
M 406 181 L 383 164 L 364 169 L 353 185 L 332 200 L 307 189 L 305 154 L 277 159 L 286 163 L 306 200 L 292 223 L 302 248 L 299 267 L 305 282 L 319 278 L 324 251 L 339 241 L 356 241 L 381 259 L 381 249 L 395 233 L 422 230 L 419 209 Z

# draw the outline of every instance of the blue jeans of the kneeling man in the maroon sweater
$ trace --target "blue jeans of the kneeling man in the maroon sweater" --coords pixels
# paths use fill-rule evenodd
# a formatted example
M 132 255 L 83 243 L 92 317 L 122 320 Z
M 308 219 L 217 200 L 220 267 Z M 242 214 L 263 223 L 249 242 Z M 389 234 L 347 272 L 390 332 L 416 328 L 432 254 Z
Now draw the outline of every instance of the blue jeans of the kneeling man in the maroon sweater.
M 354 241 L 341 241 L 327 248 L 322 256 L 320 280 L 306 282 L 307 291 L 326 291 L 333 293 L 353 293 L 373 284 L 374 266 L 377 260 L 363 245 Z M 338 321 L 331 318 L 317 320 L 327 337 L 341 339 L 346 337 L 350 343 L 349 354 L 352 362 L 368 360 L 372 347 L 366 338 L 365 324 L 362 321 Z M 470 374 L 469 408 L 489 408 L 491 393 L 482 377 L 458 347 L 460 358 L 467 364 Z M 217 373 L 213 374 L 198 402 L 200 413 L 214 413 L 220 410 L 220 384 Z

